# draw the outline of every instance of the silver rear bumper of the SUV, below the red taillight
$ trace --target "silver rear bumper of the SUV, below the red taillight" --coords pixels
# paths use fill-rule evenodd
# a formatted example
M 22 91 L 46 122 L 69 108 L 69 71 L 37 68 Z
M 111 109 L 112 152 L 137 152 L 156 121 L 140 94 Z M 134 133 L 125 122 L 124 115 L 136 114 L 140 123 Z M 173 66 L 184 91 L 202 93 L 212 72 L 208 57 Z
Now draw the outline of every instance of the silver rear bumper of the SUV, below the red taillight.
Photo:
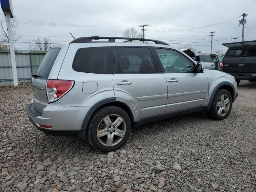
M 48 104 L 40 113 L 35 110 L 33 102 L 27 105 L 30 121 L 38 130 L 50 135 L 75 135 L 81 130 L 82 122 L 91 107 L 64 107 L 59 102 Z M 52 128 L 44 128 L 52 126 Z

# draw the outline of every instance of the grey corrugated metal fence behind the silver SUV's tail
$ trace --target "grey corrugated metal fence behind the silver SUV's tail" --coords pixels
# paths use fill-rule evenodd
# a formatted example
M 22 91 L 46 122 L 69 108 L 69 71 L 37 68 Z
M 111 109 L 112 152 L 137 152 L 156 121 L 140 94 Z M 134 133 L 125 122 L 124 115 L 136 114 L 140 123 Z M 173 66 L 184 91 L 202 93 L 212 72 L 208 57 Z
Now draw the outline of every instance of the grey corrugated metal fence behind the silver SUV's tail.
M 29 82 L 36 73 L 46 51 L 15 51 L 18 82 Z M 12 85 L 12 66 L 10 52 L 0 50 L 0 86 Z

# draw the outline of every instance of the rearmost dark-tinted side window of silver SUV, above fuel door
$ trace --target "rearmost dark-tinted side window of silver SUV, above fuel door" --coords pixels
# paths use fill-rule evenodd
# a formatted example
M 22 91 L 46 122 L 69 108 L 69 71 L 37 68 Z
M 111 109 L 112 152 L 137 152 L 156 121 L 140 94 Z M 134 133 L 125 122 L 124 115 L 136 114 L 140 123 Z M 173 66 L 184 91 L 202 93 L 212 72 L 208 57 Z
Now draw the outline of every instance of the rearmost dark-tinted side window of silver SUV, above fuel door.
M 78 72 L 113 74 L 114 47 L 78 49 L 72 68 Z

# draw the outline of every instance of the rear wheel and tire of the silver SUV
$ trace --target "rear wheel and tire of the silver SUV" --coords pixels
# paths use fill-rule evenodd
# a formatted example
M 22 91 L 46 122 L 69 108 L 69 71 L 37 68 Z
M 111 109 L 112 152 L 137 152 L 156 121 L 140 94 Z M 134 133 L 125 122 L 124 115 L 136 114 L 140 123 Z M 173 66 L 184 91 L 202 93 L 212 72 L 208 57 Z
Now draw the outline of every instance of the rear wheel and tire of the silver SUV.
M 110 152 L 121 148 L 127 142 L 131 127 L 130 117 L 124 110 L 116 106 L 106 106 L 94 113 L 86 136 L 94 148 Z

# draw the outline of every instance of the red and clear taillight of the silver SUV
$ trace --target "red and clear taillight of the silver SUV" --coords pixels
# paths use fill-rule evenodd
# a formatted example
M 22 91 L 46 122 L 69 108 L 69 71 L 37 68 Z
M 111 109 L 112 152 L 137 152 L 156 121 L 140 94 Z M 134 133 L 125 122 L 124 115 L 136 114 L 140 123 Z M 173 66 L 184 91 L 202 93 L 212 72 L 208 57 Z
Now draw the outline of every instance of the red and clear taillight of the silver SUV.
M 47 80 L 46 93 L 48 102 L 54 102 L 64 96 L 70 89 L 72 89 L 74 81 L 69 80 Z

